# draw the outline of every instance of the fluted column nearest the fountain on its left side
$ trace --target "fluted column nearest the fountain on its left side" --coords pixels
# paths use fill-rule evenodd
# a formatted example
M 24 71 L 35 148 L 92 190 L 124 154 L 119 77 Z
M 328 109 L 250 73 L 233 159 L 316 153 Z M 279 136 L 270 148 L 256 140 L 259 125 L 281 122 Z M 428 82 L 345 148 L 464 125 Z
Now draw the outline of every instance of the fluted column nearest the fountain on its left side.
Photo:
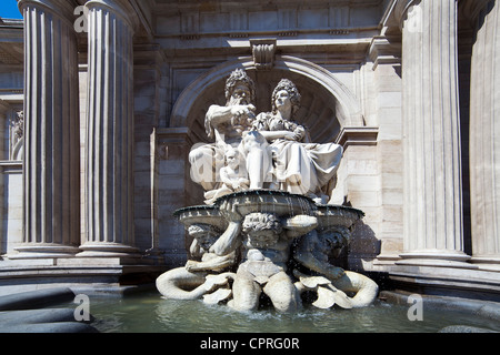
M 130 256 L 137 252 L 133 29 L 122 2 L 92 0 L 86 6 L 89 9 L 86 241 L 79 256 Z

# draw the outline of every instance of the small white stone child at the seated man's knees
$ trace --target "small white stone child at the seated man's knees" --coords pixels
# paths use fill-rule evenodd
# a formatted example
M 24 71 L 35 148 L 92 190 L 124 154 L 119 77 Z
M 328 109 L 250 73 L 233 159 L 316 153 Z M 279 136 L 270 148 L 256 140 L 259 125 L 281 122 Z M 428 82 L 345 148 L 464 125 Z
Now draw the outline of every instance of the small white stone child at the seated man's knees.
M 223 195 L 249 187 L 250 181 L 244 163 L 241 163 L 239 151 L 232 146 L 229 146 L 226 151 L 226 166 L 220 169 L 219 175 L 222 186 L 204 193 L 207 204 L 212 204 Z

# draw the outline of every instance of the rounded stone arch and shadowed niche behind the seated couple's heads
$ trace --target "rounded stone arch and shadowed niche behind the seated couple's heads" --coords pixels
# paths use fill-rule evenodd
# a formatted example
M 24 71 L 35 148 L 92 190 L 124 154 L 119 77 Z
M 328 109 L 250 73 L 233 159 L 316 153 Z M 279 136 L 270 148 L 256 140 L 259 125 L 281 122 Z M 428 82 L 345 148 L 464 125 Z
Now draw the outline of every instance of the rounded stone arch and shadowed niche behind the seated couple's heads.
M 170 126 L 188 126 L 194 141 L 206 142 L 206 112 L 213 103 L 226 104 L 226 79 L 238 68 L 244 69 L 256 82 L 257 112 L 271 110 L 271 93 L 281 79 L 293 81 L 301 94 L 296 119 L 309 129 L 313 142 L 332 142 L 342 128 L 363 125 L 356 98 L 328 70 L 294 57 L 278 55 L 272 70 L 256 70 L 252 58 L 244 57 L 201 74 L 179 95 Z

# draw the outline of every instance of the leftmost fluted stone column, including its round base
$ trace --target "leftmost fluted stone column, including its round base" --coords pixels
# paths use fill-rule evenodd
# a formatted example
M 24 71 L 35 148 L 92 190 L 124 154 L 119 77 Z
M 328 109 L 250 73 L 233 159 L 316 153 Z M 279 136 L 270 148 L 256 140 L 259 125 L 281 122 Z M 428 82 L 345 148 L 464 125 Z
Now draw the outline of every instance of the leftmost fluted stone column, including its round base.
M 77 39 L 66 0 L 21 0 L 24 17 L 23 242 L 9 257 L 71 256 L 80 244 Z

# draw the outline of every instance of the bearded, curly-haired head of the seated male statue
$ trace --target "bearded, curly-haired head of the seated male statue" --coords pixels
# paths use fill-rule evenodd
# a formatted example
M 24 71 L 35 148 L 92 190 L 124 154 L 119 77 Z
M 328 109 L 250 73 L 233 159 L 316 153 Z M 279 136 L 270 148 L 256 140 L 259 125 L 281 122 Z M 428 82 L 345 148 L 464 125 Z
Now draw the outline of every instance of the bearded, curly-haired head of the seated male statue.
M 256 100 L 256 84 L 243 69 L 236 69 L 226 80 L 226 100 L 231 104 L 250 104 Z

